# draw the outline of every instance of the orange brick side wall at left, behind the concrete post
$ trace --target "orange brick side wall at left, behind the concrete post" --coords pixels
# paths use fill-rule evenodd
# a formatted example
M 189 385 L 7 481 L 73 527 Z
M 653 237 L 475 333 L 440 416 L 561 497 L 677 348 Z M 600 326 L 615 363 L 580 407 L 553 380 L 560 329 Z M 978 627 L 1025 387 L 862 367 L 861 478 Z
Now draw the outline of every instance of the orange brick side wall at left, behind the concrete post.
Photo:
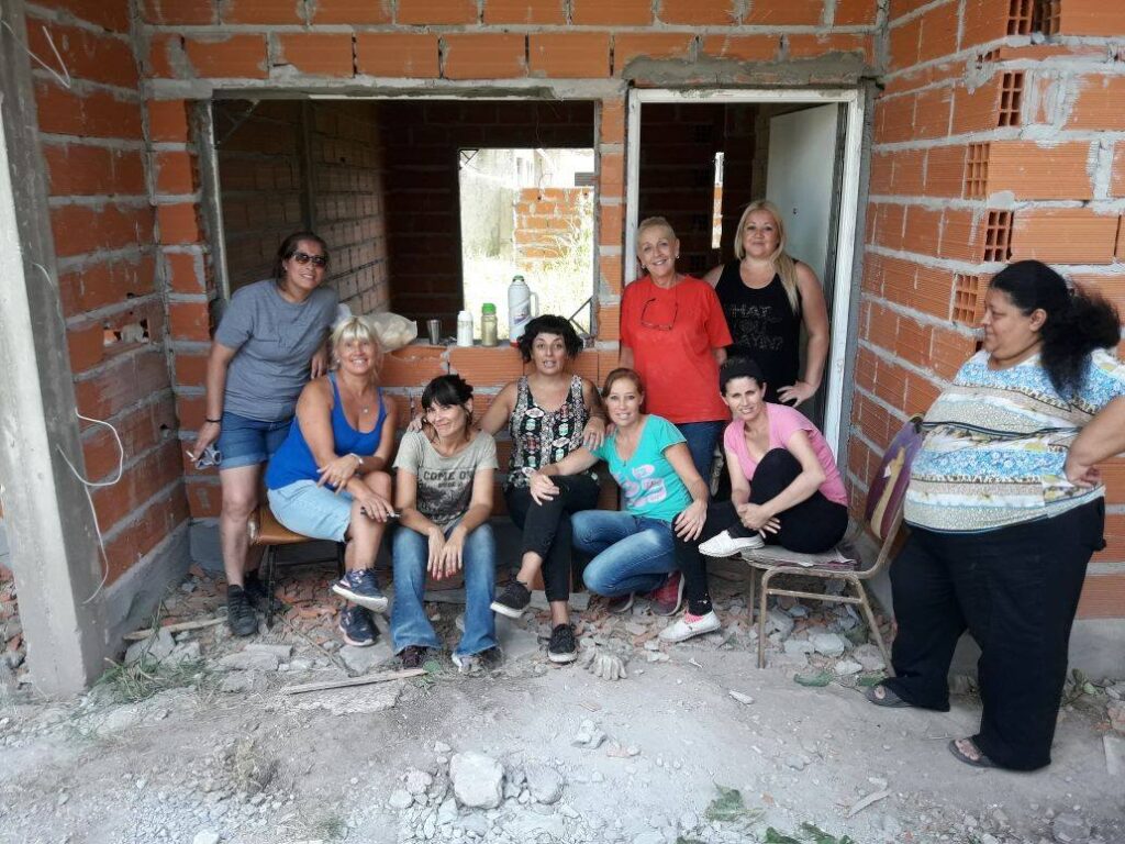
M 93 494 L 112 583 L 188 517 L 165 361 L 177 314 L 166 308 L 158 249 L 165 223 L 146 179 L 189 194 L 197 177 L 182 152 L 146 151 L 129 3 L 50 6 L 65 17 L 29 7 L 27 30 L 30 48 L 53 56 L 50 30 L 71 77 L 66 88 L 51 73 L 34 73 L 66 352 L 78 411 L 111 423 L 125 448 L 120 479 Z M 87 477 L 111 479 L 112 434 L 82 424 Z

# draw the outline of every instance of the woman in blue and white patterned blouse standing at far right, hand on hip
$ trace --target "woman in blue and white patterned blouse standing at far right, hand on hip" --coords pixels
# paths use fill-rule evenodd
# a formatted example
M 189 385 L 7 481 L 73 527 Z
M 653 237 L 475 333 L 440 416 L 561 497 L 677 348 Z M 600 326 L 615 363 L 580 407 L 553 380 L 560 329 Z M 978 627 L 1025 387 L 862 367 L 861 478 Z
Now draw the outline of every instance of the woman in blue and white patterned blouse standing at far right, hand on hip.
M 1125 366 L 1104 299 L 1022 261 L 986 297 L 983 349 L 926 414 L 891 567 L 897 676 L 883 707 L 947 711 L 964 630 L 981 647 L 980 731 L 950 743 L 978 767 L 1030 771 L 1051 743 L 1086 566 L 1105 547 L 1097 464 L 1125 450 Z

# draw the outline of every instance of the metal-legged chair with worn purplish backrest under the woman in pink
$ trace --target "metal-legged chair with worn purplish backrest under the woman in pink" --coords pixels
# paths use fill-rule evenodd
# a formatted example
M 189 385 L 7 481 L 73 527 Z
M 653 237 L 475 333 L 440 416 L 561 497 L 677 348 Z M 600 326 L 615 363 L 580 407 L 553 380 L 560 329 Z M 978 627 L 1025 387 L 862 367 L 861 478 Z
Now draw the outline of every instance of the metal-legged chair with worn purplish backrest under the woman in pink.
M 770 595 L 790 595 L 792 598 L 806 598 L 813 601 L 835 601 L 837 603 L 860 604 L 863 609 L 864 618 L 875 637 L 875 644 L 883 654 L 888 673 L 894 673 L 891 667 L 891 655 L 883 643 L 883 636 L 875 623 L 875 613 L 871 609 L 867 600 L 867 592 L 863 582 L 875 577 L 886 567 L 891 556 L 891 548 L 898 536 L 899 527 L 902 524 L 902 502 L 906 497 L 907 484 L 910 481 L 910 466 L 915 455 L 921 446 L 921 416 L 911 416 L 901 430 L 891 440 L 883 455 L 882 461 L 875 477 L 867 490 L 867 502 L 864 509 L 864 521 L 874 535 L 875 539 L 882 540 L 879 548 L 879 556 L 870 568 L 855 569 L 855 560 L 840 550 L 844 540 L 830 551 L 825 554 L 798 554 L 780 546 L 765 546 L 753 550 L 742 551 L 742 559 L 749 566 L 749 599 L 747 605 L 754 608 L 754 580 L 758 571 L 762 572 L 762 589 L 758 607 L 758 667 L 764 668 L 766 663 L 766 603 Z M 862 530 L 862 527 L 860 528 Z M 800 592 L 793 590 L 777 589 L 771 585 L 775 577 L 801 576 L 820 577 L 826 581 L 838 580 L 844 582 L 845 590 L 839 595 L 821 594 L 817 592 Z M 850 586 L 855 594 L 847 594 Z

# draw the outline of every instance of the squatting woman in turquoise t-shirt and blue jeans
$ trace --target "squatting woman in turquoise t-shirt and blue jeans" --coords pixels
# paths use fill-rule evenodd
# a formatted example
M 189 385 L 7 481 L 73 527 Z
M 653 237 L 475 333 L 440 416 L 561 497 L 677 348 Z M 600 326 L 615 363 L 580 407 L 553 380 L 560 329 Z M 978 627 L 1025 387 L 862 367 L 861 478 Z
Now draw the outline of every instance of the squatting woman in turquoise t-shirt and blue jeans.
M 677 566 L 683 555 L 699 553 L 695 540 L 703 530 L 708 504 L 706 484 L 684 436 L 666 419 L 641 413 L 645 390 L 632 369 L 610 372 L 602 397 L 615 427 L 613 433 L 595 449 L 584 446 L 542 467 L 531 476 L 531 495 L 536 501 L 551 499 L 558 494 L 552 475 L 574 475 L 605 460 L 621 486 L 626 509 L 585 510 L 572 517 L 575 546 L 594 555 L 583 574 L 586 587 L 618 599 L 610 609 L 624 612 L 634 592 L 656 590 L 669 573 L 691 568 L 701 576 L 686 584 L 675 578 L 675 605 L 666 614 L 680 608 L 686 593 L 688 612 L 705 618 L 704 626 L 716 630 L 719 619 L 711 609 L 702 566 Z

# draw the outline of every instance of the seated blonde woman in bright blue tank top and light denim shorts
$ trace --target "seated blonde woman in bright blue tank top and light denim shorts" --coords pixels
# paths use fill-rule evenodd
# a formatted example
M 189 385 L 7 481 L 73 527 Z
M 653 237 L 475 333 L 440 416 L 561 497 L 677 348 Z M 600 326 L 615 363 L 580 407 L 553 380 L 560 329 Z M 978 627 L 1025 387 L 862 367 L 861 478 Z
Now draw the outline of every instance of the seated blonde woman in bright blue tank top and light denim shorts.
M 353 605 L 340 617 L 349 645 L 375 643 L 371 610 L 387 599 L 375 557 L 394 514 L 387 465 L 395 447 L 395 408 L 378 386 L 382 349 L 371 324 L 352 316 L 332 332 L 334 372 L 309 381 L 289 436 L 266 472 L 270 509 L 289 530 L 348 542 L 346 572 L 332 586 Z

